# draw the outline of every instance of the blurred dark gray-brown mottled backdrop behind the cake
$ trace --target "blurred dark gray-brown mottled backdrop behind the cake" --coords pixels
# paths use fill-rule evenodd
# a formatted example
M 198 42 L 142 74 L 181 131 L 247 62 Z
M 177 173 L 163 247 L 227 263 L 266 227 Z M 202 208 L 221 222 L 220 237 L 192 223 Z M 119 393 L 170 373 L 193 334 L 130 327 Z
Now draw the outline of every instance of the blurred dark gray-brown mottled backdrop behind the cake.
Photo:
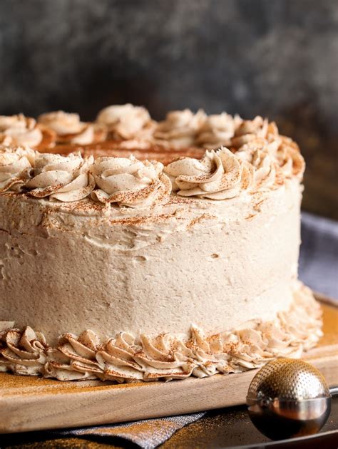
M 0 113 L 110 103 L 277 120 L 338 218 L 337 0 L 1 0 Z

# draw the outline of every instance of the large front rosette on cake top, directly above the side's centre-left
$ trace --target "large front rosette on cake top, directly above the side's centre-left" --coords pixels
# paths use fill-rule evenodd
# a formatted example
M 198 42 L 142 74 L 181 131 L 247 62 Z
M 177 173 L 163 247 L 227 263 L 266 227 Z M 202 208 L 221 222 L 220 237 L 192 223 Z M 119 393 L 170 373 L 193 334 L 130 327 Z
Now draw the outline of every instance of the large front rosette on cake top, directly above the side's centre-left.
M 160 162 L 140 161 L 133 156 L 98 158 L 91 172 L 99 187 L 91 197 L 99 202 L 145 207 L 164 202 L 170 195 L 170 180 Z

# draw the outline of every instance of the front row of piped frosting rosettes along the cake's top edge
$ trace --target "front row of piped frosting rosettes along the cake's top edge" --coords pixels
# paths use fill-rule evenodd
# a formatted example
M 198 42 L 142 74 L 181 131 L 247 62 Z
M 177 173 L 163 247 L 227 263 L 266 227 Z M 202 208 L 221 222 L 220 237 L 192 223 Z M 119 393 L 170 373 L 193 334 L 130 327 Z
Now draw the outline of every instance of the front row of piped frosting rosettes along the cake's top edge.
M 146 207 L 167 202 L 172 192 L 227 200 L 245 192 L 277 189 L 292 177 L 301 182 L 304 160 L 299 148 L 280 136 L 272 124 L 266 127 L 265 138 L 260 137 L 261 130 L 248 133 L 237 150 L 221 146 L 206 150 L 200 160 L 181 157 L 165 166 L 133 155 L 94 160 L 81 153 L 64 156 L 29 147 L 2 147 L 0 194 L 14 191 L 61 202 L 91 197 L 101 203 Z

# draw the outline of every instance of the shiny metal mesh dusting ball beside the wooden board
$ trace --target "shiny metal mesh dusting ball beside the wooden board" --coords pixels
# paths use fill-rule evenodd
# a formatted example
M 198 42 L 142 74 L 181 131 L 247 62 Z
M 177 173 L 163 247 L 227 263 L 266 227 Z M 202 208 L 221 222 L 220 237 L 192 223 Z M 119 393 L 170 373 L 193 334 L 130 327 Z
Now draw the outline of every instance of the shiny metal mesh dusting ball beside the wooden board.
M 317 433 L 331 410 L 324 376 L 302 360 L 277 358 L 263 366 L 247 391 L 252 423 L 272 440 Z

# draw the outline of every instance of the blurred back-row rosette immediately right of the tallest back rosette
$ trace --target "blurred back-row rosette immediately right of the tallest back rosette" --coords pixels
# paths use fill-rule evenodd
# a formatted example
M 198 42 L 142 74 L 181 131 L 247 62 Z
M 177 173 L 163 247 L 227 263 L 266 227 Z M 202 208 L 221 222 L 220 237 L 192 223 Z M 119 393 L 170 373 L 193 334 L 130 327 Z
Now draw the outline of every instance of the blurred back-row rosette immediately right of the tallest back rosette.
M 205 123 L 207 115 L 203 110 L 193 113 L 190 109 L 173 110 L 155 129 L 155 142 L 163 146 L 190 147 L 195 145 L 196 136 Z

